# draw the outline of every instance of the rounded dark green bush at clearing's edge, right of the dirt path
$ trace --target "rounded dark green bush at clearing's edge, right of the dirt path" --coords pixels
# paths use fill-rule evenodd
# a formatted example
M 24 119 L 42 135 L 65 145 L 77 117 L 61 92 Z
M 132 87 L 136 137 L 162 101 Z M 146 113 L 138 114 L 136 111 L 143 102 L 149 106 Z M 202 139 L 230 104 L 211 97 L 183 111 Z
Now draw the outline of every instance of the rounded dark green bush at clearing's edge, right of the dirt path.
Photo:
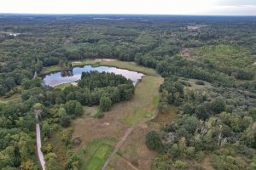
M 146 145 L 149 150 L 158 150 L 162 149 L 162 142 L 158 133 L 151 131 L 146 134 Z

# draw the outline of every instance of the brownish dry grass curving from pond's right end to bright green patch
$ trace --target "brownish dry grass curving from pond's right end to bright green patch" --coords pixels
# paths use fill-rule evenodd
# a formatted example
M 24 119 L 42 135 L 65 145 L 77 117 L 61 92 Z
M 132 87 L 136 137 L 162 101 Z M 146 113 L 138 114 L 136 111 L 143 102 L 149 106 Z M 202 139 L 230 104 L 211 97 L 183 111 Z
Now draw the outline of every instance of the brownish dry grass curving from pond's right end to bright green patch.
M 102 119 L 81 117 L 75 120 L 73 122 L 73 138 L 80 137 L 82 139 L 82 143 L 75 149 L 79 150 L 94 139 L 113 137 L 119 140 L 122 138 L 130 125 L 130 123 L 124 123 L 126 119 L 129 120 L 128 122 L 132 122 L 131 125 L 134 125 L 133 122 L 142 122 L 147 118 L 147 115 L 144 115 L 145 113 L 148 114 L 147 112 L 137 111 L 135 113 L 135 109 L 148 109 L 148 105 L 153 105 L 162 82 L 161 77 L 145 76 L 142 82 L 137 85 L 133 97 L 128 101 L 114 105 Z M 130 119 L 131 117 L 136 120 Z

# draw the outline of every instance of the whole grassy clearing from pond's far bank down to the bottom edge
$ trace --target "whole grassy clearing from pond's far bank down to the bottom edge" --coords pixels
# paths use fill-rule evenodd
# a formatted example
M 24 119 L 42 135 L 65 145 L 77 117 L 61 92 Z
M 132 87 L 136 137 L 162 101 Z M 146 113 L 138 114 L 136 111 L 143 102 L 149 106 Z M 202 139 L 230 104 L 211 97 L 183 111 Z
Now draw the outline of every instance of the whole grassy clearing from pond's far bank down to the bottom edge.
M 105 116 L 102 119 L 92 117 L 96 107 L 84 107 L 89 114 L 77 118 L 72 123 L 73 139 L 80 139 L 81 141 L 79 144 L 74 145 L 74 151 L 82 155 L 82 169 L 101 169 L 102 163 L 106 161 L 108 155 L 113 151 L 119 140 L 123 138 L 127 130 L 131 127 L 137 127 L 140 122 L 148 120 L 148 118 L 154 115 L 159 99 L 158 89 L 164 79 L 158 76 L 154 69 L 139 66 L 134 62 L 112 59 L 86 59 L 73 62 L 73 66 L 75 65 L 108 65 L 143 72 L 146 75 L 137 84 L 132 98 L 113 105 L 111 111 L 105 112 Z M 151 122 L 149 124 L 155 125 L 158 123 Z M 134 145 L 138 148 L 136 154 L 138 154 L 139 169 L 148 169 L 150 162 L 154 159 L 156 153 L 148 150 L 144 144 L 144 136 L 151 127 L 156 128 L 155 126 L 148 126 L 148 123 L 140 124 L 131 133 L 131 136 L 125 140 L 124 146 L 119 150 L 125 153 L 124 162 L 126 164 L 131 162 L 130 167 L 134 164 L 133 154 L 128 151 L 131 148 L 125 145 Z M 85 150 L 85 154 L 83 150 Z M 115 154 L 114 159 L 110 161 L 110 167 L 115 167 L 113 161 L 115 161 L 116 157 L 121 157 L 118 154 Z M 117 161 L 120 160 L 118 159 Z M 122 167 L 114 169 L 119 168 Z

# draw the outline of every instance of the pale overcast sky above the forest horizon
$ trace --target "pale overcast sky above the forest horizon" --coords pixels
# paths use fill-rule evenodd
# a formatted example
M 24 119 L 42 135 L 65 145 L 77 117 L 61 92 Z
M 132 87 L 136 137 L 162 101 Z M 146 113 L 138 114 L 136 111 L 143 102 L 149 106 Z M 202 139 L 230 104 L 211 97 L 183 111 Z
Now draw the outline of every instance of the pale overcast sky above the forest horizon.
M 256 15 L 256 0 L 0 0 L 0 13 Z

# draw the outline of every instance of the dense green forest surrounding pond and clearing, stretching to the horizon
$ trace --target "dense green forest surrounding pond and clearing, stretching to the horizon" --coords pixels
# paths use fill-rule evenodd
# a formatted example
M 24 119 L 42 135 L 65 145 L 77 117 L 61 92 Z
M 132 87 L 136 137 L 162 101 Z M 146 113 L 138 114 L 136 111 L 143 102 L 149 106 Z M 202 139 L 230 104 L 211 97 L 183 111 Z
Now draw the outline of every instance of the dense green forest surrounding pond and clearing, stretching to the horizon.
M 38 109 L 47 169 L 81 168 L 67 127 L 84 106 L 98 105 L 101 118 L 131 99 L 136 88 L 123 76 L 97 71 L 84 72 L 78 86 L 44 86 L 44 68 L 65 70 L 84 59 L 133 61 L 164 78 L 159 114 L 173 106 L 178 118 L 144 136 L 148 150 L 157 152 L 152 170 L 205 169 L 209 156 L 216 170 L 256 169 L 255 17 L 96 17 L 0 17 L 0 169 L 41 168 L 35 150 Z M 49 144 L 62 128 L 64 166 Z

